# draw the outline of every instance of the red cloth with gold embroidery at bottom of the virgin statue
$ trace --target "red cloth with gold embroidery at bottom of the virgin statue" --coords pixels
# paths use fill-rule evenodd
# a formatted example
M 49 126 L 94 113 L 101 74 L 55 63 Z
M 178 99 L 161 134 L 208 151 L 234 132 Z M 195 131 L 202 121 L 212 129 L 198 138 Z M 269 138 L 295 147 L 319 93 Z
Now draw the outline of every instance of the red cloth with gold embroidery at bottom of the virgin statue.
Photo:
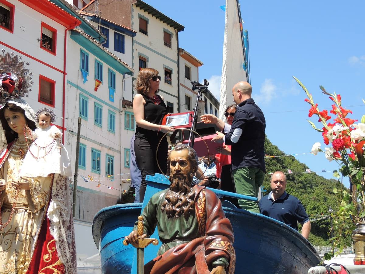
M 50 243 L 50 241 L 52 242 Z M 48 260 L 49 262 L 46 262 Z M 39 232 L 33 257 L 26 274 L 40 273 L 40 272 L 44 274 L 54 274 L 54 273 L 65 274 L 65 266 L 63 263 L 57 263 L 58 260 L 59 258 L 56 250 L 56 242 L 54 240 L 54 237 L 49 232 L 49 220 L 46 217 L 45 220 L 43 221 L 41 231 Z

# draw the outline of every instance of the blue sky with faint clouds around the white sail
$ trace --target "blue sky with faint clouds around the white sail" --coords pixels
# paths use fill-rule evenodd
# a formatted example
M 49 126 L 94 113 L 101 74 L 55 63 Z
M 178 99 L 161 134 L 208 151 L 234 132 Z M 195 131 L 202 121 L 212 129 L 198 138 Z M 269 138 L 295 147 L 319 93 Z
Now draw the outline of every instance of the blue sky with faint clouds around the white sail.
M 199 78 L 210 80 L 219 97 L 222 73 L 225 1 L 146 1 L 185 26 L 179 46 L 204 65 Z M 266 134 L 285 153 L 310 152 L 322 135 L 308 124 L 309 104 L 295 83 L 296 76 L 308 88 L 320 109 L 331 102 L 319 85 L 342 96 L 342 105 L 353 110 L 349 118 L 365 114 L 363 78 L 365 2 L 351 1 L 240 1 L 243 28 L 248 30 L 253 98 L 266 118 Z M 314 117 L 311 121 L 315 122 Z M 313 171 L 332 171 L 338 165 L 323 153 L 296 158 Z M 333 178 L 331 173 L 320 173 Z

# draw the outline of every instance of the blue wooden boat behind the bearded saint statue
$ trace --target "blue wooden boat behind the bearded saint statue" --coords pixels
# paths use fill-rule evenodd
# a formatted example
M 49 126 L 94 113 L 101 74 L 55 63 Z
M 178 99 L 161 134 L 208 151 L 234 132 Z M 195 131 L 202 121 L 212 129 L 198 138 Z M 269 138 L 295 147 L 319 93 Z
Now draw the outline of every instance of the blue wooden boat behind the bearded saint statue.
M 146 179 L 148 186 L 143 204 L 109 206 L 94 217 L 92 232 L 100 251 L 102 273 L 137 273 L 136 249 L 131 245 L 123 246 L 124 236 L 132 231 L 150 197 L 169 187 L 168 179 L 160 174 L 147 176 Z M 243 196 L 213 191 L 225 196 Z M 236 273 L 301 274 L 320 262 L 315 248 L 295 229 L 262 214 L 233 207 L 229 202 L 223 203 L 235 235 Z M 159 239 L 157 232 L 151 237 Z M 145 249 L 145 262 L 155 257 L 159 247 L 160 244 L 150 245 Z

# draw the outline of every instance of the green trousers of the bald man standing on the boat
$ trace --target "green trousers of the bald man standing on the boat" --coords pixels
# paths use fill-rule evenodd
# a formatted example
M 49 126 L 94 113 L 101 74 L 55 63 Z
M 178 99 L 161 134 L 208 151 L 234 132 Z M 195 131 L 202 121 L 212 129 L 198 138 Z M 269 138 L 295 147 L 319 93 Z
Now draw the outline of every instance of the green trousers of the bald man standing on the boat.
M 264 171 L 256 167 L 241 167 L 235 169 L 232 173 L 237 193 L 257 197 L 258 190 L 264 182 Z M 258 202 L 238 199 L 238 204 L 242 209 L 260 213 Z

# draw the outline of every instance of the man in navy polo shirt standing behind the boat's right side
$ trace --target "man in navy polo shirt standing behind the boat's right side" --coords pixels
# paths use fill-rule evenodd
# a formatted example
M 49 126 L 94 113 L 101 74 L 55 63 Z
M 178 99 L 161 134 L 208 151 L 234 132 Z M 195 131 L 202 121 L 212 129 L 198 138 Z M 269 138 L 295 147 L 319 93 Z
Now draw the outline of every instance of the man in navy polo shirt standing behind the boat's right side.
M 308 239 L 311 222 L 299 199 L 285 191 L 287 176 L 275 171 L 270 178 L 271 191 L 259 202 L 260 213 L 283 222 L 298 231 L 297 222 L 302 225 L 301 235 Z

